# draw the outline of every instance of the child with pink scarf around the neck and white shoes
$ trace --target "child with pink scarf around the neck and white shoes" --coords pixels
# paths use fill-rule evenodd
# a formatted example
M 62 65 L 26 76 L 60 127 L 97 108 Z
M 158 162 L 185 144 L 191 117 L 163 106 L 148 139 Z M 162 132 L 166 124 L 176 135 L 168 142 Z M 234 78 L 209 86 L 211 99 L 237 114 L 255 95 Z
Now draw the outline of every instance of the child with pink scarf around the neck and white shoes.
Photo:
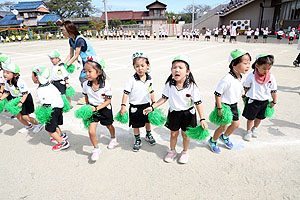
M 258 55 L 252 65 L 254 71 L 244 83 L 246 105 L 243 116 L 247 119 L 247 132 L 243 139 L 246 141 L 250 141 L 251 136 L 258 136 L 257 129 L 261 120 L 265 119 L 269 100 L 272 99 L 271 107 L 277 103 L 277 84 L 273 74 L 270 74 L 273 63 L 273 55 Z

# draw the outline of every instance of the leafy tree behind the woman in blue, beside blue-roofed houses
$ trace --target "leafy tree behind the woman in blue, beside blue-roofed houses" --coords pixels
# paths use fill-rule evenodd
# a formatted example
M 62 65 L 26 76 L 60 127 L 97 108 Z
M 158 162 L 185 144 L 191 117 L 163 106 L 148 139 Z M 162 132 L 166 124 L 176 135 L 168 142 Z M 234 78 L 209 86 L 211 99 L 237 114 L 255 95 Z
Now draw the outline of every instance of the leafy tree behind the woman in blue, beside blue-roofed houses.
M 62 18 L 89 17 L 96 11 L 92 0 L 46 0 L 45 3 Z

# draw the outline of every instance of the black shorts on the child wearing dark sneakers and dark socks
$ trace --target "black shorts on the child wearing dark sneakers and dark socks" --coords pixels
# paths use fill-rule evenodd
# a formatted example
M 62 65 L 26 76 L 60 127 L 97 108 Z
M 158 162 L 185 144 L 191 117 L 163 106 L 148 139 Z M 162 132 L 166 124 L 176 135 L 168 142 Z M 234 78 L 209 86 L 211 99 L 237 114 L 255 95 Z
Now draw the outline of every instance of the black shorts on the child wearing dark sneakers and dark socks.
M 149 123 L 148 115 L 143 114 L 143 110 L 150 107 L 150 103 L 129 106 L 129 127 L 141 128 Z

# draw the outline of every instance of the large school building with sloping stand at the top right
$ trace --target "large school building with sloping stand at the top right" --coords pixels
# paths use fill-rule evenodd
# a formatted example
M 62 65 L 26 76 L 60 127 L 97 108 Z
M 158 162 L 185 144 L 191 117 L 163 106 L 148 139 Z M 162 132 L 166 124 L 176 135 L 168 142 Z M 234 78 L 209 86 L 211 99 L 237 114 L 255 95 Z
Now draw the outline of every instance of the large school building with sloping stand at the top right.
M 215 7 L 195 21 L 195 28 L 216 28 L 234 20 L 240 29 L 275 31 L 300 25 L 300 0 L 236 0 Z

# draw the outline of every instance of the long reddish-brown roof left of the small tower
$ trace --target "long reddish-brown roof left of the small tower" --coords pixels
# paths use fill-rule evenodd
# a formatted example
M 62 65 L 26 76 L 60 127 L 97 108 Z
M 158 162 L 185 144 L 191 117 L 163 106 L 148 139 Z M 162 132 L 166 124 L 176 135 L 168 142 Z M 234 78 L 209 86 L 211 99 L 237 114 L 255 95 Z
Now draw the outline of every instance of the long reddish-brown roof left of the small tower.
M 108 20 L 111 19 L 120 19 L 121 21 L 125 20 L 143 20 L 144 16 L 148 16 L 148 11 L 137 11 L 132 10 L 128 11 L 109 11 L 107 12 Z M 105 20 L 105 13 L 102 13 L 101 20 Z

